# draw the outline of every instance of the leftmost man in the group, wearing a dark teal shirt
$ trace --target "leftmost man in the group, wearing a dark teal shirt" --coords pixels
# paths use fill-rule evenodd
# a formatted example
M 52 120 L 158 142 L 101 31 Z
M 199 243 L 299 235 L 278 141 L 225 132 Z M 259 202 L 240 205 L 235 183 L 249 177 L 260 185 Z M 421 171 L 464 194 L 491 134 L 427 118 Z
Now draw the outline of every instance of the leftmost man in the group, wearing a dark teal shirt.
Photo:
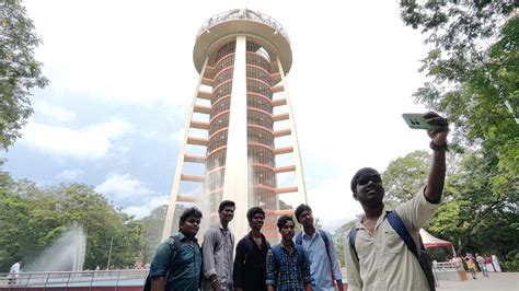
M 150 267 L 151 291 L 198 290 L 201 271 L 201 249 L 198 233 L 201 212 L 184 210 L 180 232 L 157 247 Z

